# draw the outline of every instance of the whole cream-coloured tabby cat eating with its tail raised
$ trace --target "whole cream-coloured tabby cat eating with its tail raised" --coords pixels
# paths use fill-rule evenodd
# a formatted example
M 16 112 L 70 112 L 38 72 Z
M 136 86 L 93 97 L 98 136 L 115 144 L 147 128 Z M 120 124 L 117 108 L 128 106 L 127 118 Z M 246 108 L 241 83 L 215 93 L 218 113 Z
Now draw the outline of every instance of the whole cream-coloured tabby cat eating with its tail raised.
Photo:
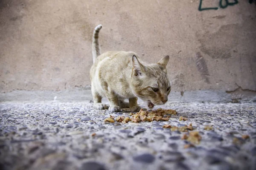
M 148 108 L 163 105 L 168 100 L 171 91 L 167 77 L 166 65 L 169 56 L 163 57 L 156 64 L 141 61 L 138 54 L 130 51 L 108 51 L 100 55 L 99 30 L 93 31 L 93 66 L 90 69 L 91 90 L 94 107 L 107 109 L 102 104 L 102 97 L 109 101 L 109 111 L 121 111 L 130 108 L 132 112 L 139 111 L 137 97 L 142 99 Z M 129 103 L 124 102 L 129 99 Z

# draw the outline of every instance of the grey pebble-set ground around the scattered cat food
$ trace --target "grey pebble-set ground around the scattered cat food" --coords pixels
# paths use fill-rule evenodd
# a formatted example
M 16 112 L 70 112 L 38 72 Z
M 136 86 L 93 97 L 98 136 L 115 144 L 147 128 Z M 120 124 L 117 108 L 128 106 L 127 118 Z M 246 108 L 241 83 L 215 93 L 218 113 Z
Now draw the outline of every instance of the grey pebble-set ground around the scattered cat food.
M 123 124 L 104 119 L 129 112 L 110 114 L 92 103 L 2 103 L 0 169 L 255 170 L 255 106 L 167 103 L 162 108 L 178 112 L 168 122 Z M 184 148 L 189 132 L 162 127 L 190 123 L 202 137 L 195 147 Z

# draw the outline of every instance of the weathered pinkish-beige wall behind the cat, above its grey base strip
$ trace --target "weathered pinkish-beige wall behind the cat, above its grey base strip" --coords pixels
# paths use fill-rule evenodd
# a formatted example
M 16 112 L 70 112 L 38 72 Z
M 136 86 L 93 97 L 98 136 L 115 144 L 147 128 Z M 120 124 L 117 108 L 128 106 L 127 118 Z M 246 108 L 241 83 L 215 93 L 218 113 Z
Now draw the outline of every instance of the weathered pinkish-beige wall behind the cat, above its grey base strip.
M 229 0 L 233 2 L 233 0 Z M 224 1 L 223 1 L 224 2 Z M 0 92 L 90 87 L 91 36 L 102 52 L 169 55 L 172 91 L 256 91 L 256 6 L 199 11 L 200 0 L 0 0 Z M 202 0 L 201 7 L 218 7 Z

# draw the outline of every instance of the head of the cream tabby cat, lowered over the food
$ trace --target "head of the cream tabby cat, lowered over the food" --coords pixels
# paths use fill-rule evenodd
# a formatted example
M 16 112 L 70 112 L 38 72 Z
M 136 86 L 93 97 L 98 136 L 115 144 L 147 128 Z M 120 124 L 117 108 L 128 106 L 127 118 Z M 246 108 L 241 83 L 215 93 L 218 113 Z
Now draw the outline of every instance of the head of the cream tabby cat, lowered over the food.
M 148 105 L 148 108 L 163 105 L 168 100 L 171 91 L 166 69 L 168 62 L 169 56 L 166 56 L 156 64 L 143 65 L 135 55 L 132 57 L 132 90 Z

